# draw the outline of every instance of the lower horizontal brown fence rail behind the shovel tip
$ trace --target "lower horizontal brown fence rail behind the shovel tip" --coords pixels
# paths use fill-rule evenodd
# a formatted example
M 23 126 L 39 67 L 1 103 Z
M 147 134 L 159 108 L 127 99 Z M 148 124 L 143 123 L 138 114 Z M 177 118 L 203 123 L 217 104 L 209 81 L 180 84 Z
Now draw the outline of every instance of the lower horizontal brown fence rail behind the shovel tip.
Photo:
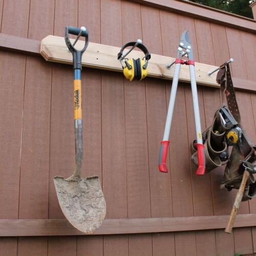
M 197 216 L 175 218 L 105 219 L 93 234 L 158 233 L 225 228 L 225 216 Z M 256 214 L 238 215 L 236 227 L 256 226 Z M 224 232 L 224 230 L 223 230 Z M 84 233 L 64 220 L 0 220 L 0 237 L 80 236 Z

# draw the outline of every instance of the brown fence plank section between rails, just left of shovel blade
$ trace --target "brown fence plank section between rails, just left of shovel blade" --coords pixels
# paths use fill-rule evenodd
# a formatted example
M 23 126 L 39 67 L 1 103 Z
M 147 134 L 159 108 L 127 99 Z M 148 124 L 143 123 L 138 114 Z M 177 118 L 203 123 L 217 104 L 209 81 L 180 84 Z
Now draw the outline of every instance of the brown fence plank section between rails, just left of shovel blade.
M 48 218 L 51 66 L 28 57 L 26 66 L 20 219 Z

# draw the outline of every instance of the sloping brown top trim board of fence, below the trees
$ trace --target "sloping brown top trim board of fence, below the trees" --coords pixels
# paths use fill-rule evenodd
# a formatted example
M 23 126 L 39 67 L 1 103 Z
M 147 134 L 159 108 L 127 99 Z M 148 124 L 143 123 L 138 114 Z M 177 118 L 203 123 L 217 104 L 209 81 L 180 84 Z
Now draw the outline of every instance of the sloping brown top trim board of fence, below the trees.
M 256 20 L 246 18 L 240 15 L 221 11 L 208 6 L 199 5 L 184 0 L 131 0 L 133 2 L 152 6 L 154 8 L 171 11 L 186 16 L 199 18 L 224 25 L 227 27 L 237 28 L 240 30 L 255 33 Z

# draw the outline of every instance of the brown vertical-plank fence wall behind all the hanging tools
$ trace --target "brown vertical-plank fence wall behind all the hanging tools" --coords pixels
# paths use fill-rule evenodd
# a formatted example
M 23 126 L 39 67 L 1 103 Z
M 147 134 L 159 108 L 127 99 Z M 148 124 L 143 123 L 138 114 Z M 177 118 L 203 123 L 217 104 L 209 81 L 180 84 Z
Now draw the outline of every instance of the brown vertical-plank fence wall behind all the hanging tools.
M 0 0 L 1 33 L 41 40 L 86 26 L 91 41 L 121 47 L 141 38 L 152 53 L 176 56 L 188 29 L 195 61 L 233 57 L 233 77 L 255 80 L 255 34 L 120 0 Z M 74 167 L 71 66 L 0 51 L 1 219 L 63 219 L 53 177 Z M 195 176 L 190 142 L 195 124 L 189 84 L 179 84 L 170 136 L 168 174 L 158 171 L 170 82 L 124 80 L 82 70 L 82 177 L 98 175 L 106 218 L 228 215 L 236 191 L 219 189 L 223 168 Z M 202 129 L 220 105 L 219 90 L 198 87 Z M 256 94 L 237 92 L 242 123 L 256 141 Z M 241 214 L 255 214 L 256 201 Z M 0 255 L 233 255 L 256 253 L 256 228 L 84 237 L 1 238 Z

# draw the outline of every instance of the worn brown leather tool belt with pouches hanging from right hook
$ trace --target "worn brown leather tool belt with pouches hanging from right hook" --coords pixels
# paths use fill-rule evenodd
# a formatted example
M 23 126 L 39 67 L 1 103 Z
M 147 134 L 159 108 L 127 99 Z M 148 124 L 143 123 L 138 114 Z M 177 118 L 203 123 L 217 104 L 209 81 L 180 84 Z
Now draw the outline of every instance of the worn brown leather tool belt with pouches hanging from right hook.
M 221 66 L 216 80 L 221 86 L 222 102 L 226 99 L 228 107 L 222 104 L 214 115 L 212 125 L 203 132 L 206 172 L 226 164 L 222 187 L 227 190 L 239 189 L 245 169 L 242 161 L 250 163 L 256 161 L 256 146 L 242 128 L 228 63 Z M 230 156 L 228 146 L 232 146 Z M 192 150 L 194 154 L 191 161 L 197 165 L 195 141 L 193 141 Z M 254 196 L 256 196 L 256 182 L 253 174 L 250 173 L 242 201 L 249 200 Z

